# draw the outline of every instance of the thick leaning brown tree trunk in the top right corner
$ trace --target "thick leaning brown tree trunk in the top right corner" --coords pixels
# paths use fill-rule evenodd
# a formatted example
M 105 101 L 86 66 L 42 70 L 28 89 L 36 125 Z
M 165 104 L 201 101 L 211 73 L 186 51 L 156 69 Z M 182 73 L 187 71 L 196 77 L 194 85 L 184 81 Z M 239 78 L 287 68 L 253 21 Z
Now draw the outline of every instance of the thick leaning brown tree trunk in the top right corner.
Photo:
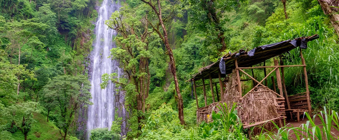
M 326 2 L 326 0 L 318 0 L 322 11 L 324 12 L 325 15 L 328 15 L 328 18 L 330 18 L 331 23 L 333 25 L 333 28 L 335 29 L 338 37 L 339 37 L 339 15 L 337 14 L 337 11 L 334 11 L 330 6 L 332 5 L 328 5 L 328 3 Z

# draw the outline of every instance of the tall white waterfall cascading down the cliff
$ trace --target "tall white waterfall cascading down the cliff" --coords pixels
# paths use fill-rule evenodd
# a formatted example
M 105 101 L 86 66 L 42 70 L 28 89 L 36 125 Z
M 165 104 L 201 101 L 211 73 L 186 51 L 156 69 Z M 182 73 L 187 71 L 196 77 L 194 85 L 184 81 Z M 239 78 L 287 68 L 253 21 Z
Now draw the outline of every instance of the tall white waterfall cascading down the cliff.
M 110 55 L 110 49 L 116 47 L 112 42 L 116 32 L 105 25 L 105 21 L 119 8 L 120 5 L 117 2 L 103 0 L 98 12 L 98 21 L 95 27 L 96 40 L 93 42 L 94 49 L 91 53 L 91 70 L 89 71 L 93 105 L 88 107 L 87 139 L 89 139 L 90 132 L 94 128 L 111 128 L 116 107 L 118 107 L 119 117 L 125 118 L 124 97 L 115 93 L 115 85 L 108 84 L 105 89 L 100 88 L 102 74 L 117 73 L 120 77 L 120 73 L 122 73 L 118 67 L 119 62 L 107 58 Z M 115 95 L 118 96 L 115 97 Z

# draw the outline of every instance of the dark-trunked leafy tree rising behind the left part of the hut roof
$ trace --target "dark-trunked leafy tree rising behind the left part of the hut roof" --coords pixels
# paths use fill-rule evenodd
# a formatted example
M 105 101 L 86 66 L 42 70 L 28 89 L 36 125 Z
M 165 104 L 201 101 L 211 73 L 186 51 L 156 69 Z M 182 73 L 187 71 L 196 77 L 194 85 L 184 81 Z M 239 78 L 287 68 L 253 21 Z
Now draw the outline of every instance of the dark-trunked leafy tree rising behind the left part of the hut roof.
M 243 0 L 188 0 L 188 19 L 191 27 L 201 31 L 205 36 L 205 45 L 215 47 L 222 52 L 227 48 L 227 32 L 225 23 L 230 19 L 226 12 L 236 9 Z M 218 53 L 214 52 L 214 53 Z

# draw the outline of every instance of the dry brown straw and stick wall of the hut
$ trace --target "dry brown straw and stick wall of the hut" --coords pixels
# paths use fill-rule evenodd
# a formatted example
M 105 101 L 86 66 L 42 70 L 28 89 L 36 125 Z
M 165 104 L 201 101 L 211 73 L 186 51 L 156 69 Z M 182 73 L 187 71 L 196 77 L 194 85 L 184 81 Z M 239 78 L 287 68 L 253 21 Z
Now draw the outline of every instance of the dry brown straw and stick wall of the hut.
M 226 83 L 226 90 L 223 93 L 225 102 L 228 107 L 237 103 L 238 116 L 243 124 L 261 122 L 285 116 L 284 98 L 277 98 L 274 91 L 268 87 L 256 87 L 252 92 L 247 93 L 242 100 L 239 100 L 238 83 L 235 71 L 230 74 L 230 80 Z M 212 111 L 218 112 L 219 102 L 212 103 L 206 107 L 197 110 L 197 121 L 207 120 L 207 115 Z M 272 124 L 267 123 L 265 128 L 272 128 Z

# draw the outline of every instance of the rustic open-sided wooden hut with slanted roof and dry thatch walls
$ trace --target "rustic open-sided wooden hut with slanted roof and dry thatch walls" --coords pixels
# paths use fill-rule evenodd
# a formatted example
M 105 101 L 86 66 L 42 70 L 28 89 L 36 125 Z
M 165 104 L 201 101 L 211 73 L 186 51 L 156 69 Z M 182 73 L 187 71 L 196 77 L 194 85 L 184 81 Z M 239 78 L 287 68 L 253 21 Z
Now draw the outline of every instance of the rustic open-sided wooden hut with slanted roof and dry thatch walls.
M 296 116 L 299 121 L 300 112 L 308 112 L 311 114 L 310 92 L 308 90 L 308 81 L 306 73 L 306 63 L 302 55 L 302 48 L 307 48 L 307 42 L 319 38 L 318 35 L 299 37 L 291 40 L 285 40 L 278 43 L 258 46 L 250 51 L 240 49 L 235 53 L 228 53 L 221 57 L 217 62 L 203 67 L 199 73 L 194 74 L 189 80 L 192 82 L 192 90 L 196 99 L 197 105 L 197 122 L 207 120 L 207 115 L 211 115 L 212 111 L 217 111 L 219 103 L 226 103 L 232 106 L 235 102 L 238 107 L 238 116 L 240 117 L 244 128 L 249 128 L 256 125 L 261 125 L 268 121 L 274 120 L 282 126 L 282 119 L 293 119 Z M 281 54 L 284 54 L 292 49 L 300 49 L 300 58 L 302 64 L 300 65 L 283 65 Z M 280 56 L 280 64 L 278 59 L 274 58 Z M 266 66 L 265 61 L 274 58 L 274 66 Z M 263 63 L 263 66 L 254 66 Z M 284 67 L 302 67 L 306 92 L 288 96 L 285 86 Z M 264 70 L 264 78 L 257 80 L 254 78 L 253 69 L 261 68 Z M 266 68 L 273 69 L 266 73 Z M 251 69 L 252 75 L 246 73 L 244 69 Z M 272 87 L 267 86 L 267 78 L 275 72 L 276 81 L 274 76 L 271 76 Z M 222 74 L 223 73 L 223 74 Z M 240 74 L 246 76 L 253 82 L 253 88 L 243 94 Z M 206 85 L 205 79 L 209 79 L 212 101 L 213 103 L 207 104 Z M 213 79 L 218 79 L 219 82 L 213 83 Z M 196 85 L 196 81 L 202 80 L 202 85 Z M 248 80 L 248 79 L 247 79 Z M 265 81 L 265 82 L 263 82 Z M 278 89 L 276 89 L 276 84 Z M 220 99 L 217 90 L 217 83 L 220 85 Z M 214 93 L 214 87 L 216 93 Z M 204 95 L 204 106 L 199 107 L 196 88 L 202 86 Z M 278 92 L 277 92 L 278 91 Z M 217 96 L 217 100 L 215 99 Z

